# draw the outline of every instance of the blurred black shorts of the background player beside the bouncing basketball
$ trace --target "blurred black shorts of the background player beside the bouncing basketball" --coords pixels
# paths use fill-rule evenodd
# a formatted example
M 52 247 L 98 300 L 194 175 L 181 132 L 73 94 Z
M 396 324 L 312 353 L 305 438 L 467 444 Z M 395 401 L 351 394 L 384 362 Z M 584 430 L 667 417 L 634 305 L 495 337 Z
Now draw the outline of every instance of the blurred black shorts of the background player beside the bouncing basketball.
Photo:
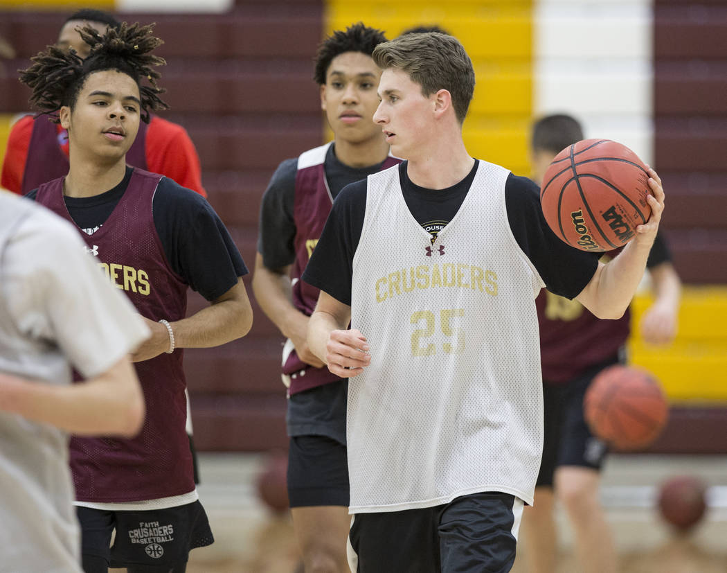
M 614 356 L 565 384 L 543 384 L 543 457 L 537 486 L 552 487 L 555 468 L 561 465 L 601 470 L 608 446 L 588 428 L 583 397 L 601 370 L 618 363 Z

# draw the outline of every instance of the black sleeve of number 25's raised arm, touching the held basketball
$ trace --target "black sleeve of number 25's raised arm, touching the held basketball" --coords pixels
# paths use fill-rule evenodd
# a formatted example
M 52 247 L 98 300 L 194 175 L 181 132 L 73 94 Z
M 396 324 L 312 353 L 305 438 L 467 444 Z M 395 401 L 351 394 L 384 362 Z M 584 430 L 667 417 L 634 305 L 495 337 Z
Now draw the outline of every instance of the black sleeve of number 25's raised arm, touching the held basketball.
M 593 278 L 601 253 L 581 251 L 558 239 L 543 216 L 538 187 L 527 177 L 507 177 L 505 205 L 515 240 L 547 289 L 576 297 Z

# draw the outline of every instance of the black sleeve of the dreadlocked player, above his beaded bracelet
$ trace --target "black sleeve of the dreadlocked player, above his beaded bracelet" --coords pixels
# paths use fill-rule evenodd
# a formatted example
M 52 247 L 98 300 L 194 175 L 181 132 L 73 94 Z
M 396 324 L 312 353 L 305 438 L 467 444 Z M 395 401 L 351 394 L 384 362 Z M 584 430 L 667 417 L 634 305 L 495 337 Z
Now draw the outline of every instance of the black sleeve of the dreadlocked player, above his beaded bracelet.
M 206 300 L 222 296 L 247 274 L 227 228 L 198 193 L 164 177 L 154 194 L 153 212 L 172 270 Z

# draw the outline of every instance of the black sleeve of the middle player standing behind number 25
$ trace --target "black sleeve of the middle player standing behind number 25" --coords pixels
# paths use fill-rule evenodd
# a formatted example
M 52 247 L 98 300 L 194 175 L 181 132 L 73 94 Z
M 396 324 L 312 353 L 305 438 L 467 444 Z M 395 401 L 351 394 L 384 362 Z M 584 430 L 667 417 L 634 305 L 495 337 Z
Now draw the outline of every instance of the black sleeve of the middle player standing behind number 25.
M 257 251 L 267 268 L 282 268 L 295 260 L 293 207 L 297 169 L 297 159 L 283 161 L 262 196 Z

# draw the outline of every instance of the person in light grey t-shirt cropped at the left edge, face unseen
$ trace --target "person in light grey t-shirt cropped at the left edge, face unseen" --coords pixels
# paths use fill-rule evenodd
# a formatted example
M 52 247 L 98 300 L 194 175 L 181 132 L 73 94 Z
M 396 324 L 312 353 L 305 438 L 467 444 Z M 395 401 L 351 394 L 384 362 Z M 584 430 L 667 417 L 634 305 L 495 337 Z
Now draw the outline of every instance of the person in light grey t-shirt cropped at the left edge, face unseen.
M 68 433 L 140 430 L 129 353 L 148 334 L 71 225 L 0 190 L 2 571 L 81 571 Z

